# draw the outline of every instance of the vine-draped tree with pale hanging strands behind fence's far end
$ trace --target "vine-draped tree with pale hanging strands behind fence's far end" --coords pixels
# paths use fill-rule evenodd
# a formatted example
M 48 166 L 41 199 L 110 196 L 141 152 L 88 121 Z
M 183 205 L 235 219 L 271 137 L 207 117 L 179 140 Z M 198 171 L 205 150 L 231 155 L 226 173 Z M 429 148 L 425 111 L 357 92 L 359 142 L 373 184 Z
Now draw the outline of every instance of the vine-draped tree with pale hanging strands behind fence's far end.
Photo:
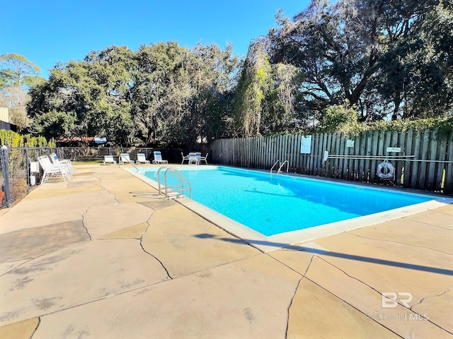
M 253 41 L 239 73 L 236 136 L 289 132 L 299 127 L 297 90 L 302 73 L 289 64 L 270 64 L 266 43 L 263 38 Z

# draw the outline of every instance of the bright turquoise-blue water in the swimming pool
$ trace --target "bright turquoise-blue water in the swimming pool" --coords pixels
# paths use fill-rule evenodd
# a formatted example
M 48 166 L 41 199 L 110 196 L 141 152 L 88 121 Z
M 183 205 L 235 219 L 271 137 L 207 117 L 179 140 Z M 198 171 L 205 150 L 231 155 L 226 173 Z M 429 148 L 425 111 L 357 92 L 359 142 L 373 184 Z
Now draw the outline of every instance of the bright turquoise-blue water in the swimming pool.
M 182 167 L 180 172 L 192 185 L 193 200 L 267 236 L 434 200 L 232 167 Z M 157 182 L 157 169 L 139 173 Z M 176 184 L 168 178 L 169 185 Z

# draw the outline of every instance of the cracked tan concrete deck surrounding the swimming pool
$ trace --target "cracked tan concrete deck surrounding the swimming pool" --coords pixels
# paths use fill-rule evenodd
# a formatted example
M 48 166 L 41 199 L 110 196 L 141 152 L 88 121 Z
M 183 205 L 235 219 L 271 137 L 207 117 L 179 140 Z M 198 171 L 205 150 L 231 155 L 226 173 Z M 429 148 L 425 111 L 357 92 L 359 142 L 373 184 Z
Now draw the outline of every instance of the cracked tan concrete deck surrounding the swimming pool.
M 77 166 L 0 210 L 0 338 L 453 338 L 452 244 L 447 205 L 263 253 Z

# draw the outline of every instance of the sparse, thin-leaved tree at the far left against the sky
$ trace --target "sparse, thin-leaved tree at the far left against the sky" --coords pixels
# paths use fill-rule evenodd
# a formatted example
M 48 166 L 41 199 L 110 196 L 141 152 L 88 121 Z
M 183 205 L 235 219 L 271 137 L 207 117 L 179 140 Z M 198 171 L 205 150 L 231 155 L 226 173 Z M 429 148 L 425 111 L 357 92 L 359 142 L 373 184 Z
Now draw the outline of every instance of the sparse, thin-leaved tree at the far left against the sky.
M 44 81 L 40 68 L 25 57 L 7 53 L 0 55 L 0 104 L 9 107 L 11 123 L 23 129 L 28 124 L 25 111 L 28 88 Z

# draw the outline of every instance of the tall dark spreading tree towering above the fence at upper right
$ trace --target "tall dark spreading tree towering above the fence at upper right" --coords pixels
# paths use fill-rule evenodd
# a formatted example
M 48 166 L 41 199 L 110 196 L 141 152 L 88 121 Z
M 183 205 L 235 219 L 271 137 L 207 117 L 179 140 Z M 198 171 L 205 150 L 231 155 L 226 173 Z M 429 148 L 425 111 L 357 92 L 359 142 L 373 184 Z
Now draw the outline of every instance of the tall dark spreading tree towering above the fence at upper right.
M 277 16 L 269 53 L 304 73 L 300 105 L 318 121 L 345 100 L 361 121 L 435 117 L 453 102 L 451 18 L 440 0 L 313 0 L 292 21 Z

